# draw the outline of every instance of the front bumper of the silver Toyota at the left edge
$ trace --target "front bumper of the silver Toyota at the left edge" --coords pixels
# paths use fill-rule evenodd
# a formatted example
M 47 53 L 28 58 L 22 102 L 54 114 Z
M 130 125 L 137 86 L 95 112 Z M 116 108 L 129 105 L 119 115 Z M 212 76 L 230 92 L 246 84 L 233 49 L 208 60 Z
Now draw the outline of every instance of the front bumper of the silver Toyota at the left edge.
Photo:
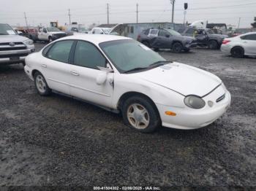
M 34 44 L 25 50 L 0 51 L 0 64 L 24 63 L 26 56 L 34 51 Z

